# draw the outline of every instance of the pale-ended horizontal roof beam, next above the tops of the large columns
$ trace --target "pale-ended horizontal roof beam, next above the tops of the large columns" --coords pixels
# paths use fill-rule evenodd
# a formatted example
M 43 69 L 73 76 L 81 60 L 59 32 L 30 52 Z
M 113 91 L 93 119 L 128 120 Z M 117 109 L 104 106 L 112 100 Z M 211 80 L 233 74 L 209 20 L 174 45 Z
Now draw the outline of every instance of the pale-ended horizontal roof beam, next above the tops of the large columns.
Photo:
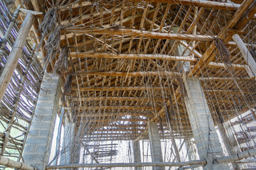
M 110 58 L 110 59 L 145 59 L 145 60 L 172 60 L 172 61 L 187 61 L 197 62 L 198 60 L 191 56 L 180 57 L 171 55 L 145 55 L 145 54 L 114 54 L 114 53 L 87 53 L 87 52 L 70 52 L 68 57 L 80 57 L 80 58 Z

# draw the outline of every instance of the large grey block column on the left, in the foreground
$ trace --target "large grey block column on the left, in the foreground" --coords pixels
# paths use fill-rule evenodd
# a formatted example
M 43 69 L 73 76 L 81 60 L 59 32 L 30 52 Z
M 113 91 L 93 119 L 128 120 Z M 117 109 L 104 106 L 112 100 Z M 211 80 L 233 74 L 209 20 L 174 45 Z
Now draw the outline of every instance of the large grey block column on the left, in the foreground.
M 36 167 L 38 170 L 45 169 L 48 163 L 59 106 L 60 87 L 61 80 L 57 75 L 44 74 L 35 116 L 23 152 L 25 163 Z

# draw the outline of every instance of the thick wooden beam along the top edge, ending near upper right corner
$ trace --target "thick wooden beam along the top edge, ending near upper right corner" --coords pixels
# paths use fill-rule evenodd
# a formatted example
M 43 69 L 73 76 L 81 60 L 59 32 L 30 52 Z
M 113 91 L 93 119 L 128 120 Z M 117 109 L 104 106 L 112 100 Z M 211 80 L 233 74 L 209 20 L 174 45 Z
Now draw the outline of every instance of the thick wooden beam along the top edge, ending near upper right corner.
M 134 0 L 128 0 L 134 1 Z M 223 10 L 237 10 L 240 5 L 239 4 L 231 4 L 217 1 L 198 1 L 198 0 L 143 0 L 147 2 L 160 2 L 160 3 L 168 3 L 168 4 L 178 4 L 184 6 L 198 6 L 203 8 L 215 8 L 215 9 L 223 9 Z

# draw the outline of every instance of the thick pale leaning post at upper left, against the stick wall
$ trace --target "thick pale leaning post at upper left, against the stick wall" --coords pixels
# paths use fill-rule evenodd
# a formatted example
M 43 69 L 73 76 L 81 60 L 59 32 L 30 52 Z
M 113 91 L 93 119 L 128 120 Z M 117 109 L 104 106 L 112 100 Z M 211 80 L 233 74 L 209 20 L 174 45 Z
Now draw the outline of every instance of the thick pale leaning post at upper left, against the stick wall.
M 21 29 L 18 31 L 17 38 L 14 42 L 14 47 L 11 49 L 10 55 L 0 77 L 0 101 L 4 96 L 9 82 L 11 81 L 11 77 L 14 74 L 14 70 L 18 64 L 18 59 L 23 51 L 23 46 L 26 42 L 26 38 L 34 20 L 35 16 L 32 13 L 28 13 L 21 25 Z

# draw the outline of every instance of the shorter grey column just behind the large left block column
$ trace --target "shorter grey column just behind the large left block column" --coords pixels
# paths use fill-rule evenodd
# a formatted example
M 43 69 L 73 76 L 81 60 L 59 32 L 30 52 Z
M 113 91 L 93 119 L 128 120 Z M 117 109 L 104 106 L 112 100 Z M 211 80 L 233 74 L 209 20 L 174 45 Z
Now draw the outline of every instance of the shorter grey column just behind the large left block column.
M 79 163 L 80 143 L 75 136 L 75 123 L 65 123 L 63 147 L 60 153 L 60 164 Z

